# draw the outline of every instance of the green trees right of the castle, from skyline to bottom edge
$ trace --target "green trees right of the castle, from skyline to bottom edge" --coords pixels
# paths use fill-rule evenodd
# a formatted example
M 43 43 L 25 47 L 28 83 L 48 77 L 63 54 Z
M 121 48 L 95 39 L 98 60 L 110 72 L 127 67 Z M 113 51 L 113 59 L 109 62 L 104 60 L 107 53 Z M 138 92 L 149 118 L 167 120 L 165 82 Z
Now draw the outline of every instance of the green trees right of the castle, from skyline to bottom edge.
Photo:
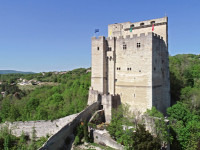
M 176 55 L 169 58 L 171 97 L 168 108 L 172 149 L 200 149 L 200 56 Z

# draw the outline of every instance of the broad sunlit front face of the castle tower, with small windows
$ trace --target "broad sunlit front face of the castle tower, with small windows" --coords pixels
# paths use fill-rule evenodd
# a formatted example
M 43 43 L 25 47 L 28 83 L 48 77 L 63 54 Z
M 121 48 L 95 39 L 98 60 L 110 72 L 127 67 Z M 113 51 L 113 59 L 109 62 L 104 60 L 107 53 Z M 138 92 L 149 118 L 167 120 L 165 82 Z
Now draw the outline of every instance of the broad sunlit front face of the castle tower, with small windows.
M 115 94 L 131 111 L 152 107 L 152 37 L 152 33 L 141 33 L 116 39 L 116 67 L 120 69 L 116 70 Z

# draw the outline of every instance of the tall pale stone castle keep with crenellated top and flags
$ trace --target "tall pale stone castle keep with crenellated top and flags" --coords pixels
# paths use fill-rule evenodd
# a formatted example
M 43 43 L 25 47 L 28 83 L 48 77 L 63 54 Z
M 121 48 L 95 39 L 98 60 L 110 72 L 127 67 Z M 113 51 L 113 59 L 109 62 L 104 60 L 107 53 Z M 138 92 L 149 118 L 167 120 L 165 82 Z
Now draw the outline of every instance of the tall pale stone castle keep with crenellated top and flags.
M 170 106 L 168 18 L 108 25 L 108 37 L 92 37 L 88 104 L 100 96 L 105 113 L 127 103 L 144 113 Z M 110 120 L 110 119 L 108 119 Z

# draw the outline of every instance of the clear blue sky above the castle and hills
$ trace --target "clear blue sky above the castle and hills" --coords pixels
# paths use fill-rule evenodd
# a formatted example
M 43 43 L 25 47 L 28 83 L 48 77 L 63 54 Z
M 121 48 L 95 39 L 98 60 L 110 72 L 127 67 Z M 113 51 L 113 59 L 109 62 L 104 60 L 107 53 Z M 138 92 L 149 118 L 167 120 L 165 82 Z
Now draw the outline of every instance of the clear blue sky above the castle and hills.
M 91 65 L 94 29 L 169 17 L 169 53 L 200 54 L 199 0 L 0 0 L 0 70 Z

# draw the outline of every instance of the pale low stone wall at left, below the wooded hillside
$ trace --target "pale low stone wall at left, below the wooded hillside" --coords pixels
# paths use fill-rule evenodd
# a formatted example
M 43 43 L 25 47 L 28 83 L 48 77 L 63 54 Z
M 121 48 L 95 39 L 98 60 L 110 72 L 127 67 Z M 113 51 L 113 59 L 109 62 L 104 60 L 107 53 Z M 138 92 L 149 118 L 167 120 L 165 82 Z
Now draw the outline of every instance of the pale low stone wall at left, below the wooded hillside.
M 71 122 L 78 114 L 66 116 L 64 118 L 56 120 L 39 120 L 39 121 L 17 121 L 17 122 L 6 122 L 0 124 L 0 128 L 7 126 L 11 133 L 19 137 L 22 133 L 32 137 L 33 129 L 36 131 L 36 138 L 40 138 L 46 135 L 53 135 L 58 132 L 62 127 Z

